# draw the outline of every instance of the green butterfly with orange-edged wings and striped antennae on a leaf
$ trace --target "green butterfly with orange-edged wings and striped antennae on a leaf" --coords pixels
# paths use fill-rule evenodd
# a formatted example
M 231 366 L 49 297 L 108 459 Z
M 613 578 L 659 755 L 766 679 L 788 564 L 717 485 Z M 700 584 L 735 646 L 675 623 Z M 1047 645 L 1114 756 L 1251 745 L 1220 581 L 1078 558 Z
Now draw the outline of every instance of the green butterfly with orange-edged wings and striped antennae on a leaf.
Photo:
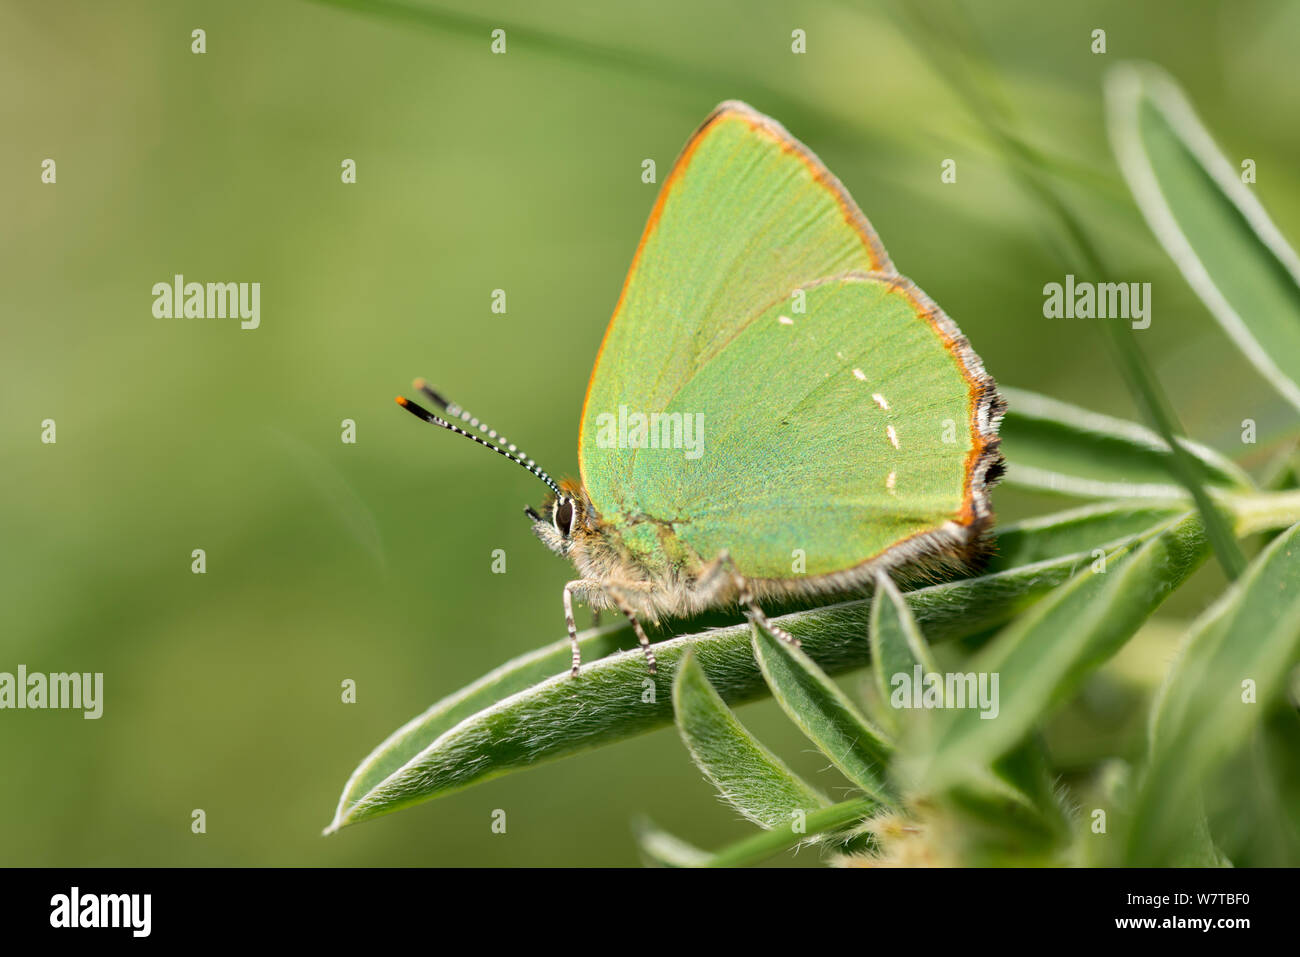
M 642 620 L 864 592 L 988 550 L 1005 402 L 889 261 L 848 191 L 775 120 L 720 104 L 664 181 L 595 358 L 578 480 L 556 482 L 422 380 L 426 423 L 545 482 L 533 532 L 573 599 Z

